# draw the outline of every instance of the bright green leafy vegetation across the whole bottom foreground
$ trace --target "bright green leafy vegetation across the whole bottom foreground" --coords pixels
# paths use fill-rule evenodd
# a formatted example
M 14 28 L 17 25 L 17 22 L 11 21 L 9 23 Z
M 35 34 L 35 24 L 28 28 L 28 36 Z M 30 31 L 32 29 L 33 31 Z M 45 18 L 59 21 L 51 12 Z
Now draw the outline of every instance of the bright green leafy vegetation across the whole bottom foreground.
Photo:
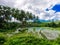
M 6 38 L 7 37 L 7 38 Z M 60 38 L 56 40 L 47 40 L 44 38 L 38 38 L 33 33 L 19 33 L 11 37 L 4 34 L 0 34 L 1 45 L 60 45 Z

